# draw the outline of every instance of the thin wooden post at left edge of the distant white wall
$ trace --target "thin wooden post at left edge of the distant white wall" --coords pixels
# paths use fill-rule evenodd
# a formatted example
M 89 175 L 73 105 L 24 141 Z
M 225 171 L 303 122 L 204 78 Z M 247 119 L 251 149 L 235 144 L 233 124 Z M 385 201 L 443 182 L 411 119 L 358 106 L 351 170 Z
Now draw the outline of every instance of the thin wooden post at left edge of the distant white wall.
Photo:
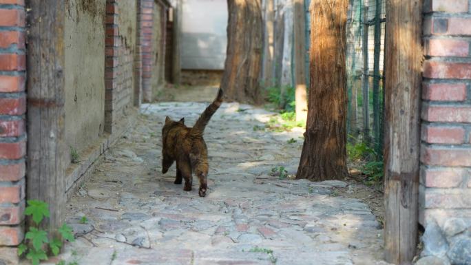
M 171 63 L 171 81 L 180 85 L 181 63 L 180 63 L 180 39 L 182 34 L 182 0 L 177 0 L 174 8 L 174 31 L 173 31 L 173 54 Z

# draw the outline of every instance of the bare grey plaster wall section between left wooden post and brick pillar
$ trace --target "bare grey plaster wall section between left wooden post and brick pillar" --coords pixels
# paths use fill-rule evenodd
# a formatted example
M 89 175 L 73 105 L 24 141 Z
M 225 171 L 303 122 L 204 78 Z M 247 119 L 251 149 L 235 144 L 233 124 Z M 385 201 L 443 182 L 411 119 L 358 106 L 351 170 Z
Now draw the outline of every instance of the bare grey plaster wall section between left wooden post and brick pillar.
M 103 133 L 105 0 L 66 1 L 65 140 L 82 150 Z

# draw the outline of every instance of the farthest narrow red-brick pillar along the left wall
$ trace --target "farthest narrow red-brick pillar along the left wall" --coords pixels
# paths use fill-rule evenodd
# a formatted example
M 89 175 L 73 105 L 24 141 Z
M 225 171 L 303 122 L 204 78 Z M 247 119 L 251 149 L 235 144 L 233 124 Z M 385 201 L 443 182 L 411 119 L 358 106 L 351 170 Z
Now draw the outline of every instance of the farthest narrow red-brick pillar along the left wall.
M 140 0 L 140 21 L 138 25 L 138 46 L 142 62 L 143 100 L 152 100 L 152 27 L 154 26 L 154 0 Z

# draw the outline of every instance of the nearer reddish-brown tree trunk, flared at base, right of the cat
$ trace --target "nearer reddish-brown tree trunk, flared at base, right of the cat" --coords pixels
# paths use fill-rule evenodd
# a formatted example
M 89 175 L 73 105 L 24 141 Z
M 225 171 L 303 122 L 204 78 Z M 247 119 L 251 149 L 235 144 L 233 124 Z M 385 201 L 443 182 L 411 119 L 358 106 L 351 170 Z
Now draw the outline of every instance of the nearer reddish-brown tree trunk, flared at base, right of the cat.
M 311 85 L 298 179 L 342 179 L 347 174 L 347 6 L 348 0 L 311 2 Z

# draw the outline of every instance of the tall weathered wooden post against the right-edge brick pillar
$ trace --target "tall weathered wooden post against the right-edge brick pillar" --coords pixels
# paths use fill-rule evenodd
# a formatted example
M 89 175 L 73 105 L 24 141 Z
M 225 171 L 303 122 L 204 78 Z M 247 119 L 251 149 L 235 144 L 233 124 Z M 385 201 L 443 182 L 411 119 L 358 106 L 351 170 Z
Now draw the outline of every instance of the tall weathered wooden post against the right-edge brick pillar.
M 388 0 L 385 83 L 386 261 L 410 262 L 417 246 L 422 0 Z

